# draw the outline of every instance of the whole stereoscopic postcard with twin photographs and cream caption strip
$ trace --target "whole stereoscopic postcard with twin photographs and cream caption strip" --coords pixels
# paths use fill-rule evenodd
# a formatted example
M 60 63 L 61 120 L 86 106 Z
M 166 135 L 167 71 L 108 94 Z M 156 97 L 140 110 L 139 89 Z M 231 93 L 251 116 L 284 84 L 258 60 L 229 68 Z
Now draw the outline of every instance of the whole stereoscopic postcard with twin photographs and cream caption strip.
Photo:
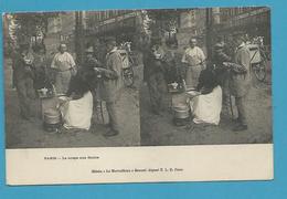
M 270 12 L 4 13 L 7 184 L 273 179 Z

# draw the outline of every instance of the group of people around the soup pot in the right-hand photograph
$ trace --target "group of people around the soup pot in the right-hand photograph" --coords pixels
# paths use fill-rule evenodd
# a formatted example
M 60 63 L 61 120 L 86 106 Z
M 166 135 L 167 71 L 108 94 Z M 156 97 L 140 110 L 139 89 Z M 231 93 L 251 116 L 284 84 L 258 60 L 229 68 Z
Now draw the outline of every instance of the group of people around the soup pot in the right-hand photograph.
M 219 125 L 221 114 L 223 109 L 230 109 L 233 96 L 237 107 L 234 130 L 246 130 L 251 55 L 245 34 L 234 33 L 227 42 L 219 36 L 212 56 L 208 59 L 195 38 L 189 40 L 189 46 L 180 56 L 176 53 L 176 42 L 169 42 L 167 46 L 163 48 L 161 39 L 155 38 L 144 51 L 144 80 L 149 88 L 151 111 L 160 115 L 168 86 L 176 84 L 184 92 L 195 91 L 190 102 L 195 124 Z

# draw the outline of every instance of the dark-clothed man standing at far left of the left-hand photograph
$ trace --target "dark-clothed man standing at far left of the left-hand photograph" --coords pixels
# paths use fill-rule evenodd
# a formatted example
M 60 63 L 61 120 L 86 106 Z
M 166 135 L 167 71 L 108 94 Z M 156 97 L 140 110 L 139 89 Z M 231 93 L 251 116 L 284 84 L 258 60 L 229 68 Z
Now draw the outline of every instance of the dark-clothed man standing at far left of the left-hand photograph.
M 33 61 L 32 53 L 29 52 L 29 44 L 21 44 L 19 53 L 13 62 L 13 77 L 20 104 L 20 115 L 29 121 L 31 117 L 31 102 L 35 98 L 33 88 Z

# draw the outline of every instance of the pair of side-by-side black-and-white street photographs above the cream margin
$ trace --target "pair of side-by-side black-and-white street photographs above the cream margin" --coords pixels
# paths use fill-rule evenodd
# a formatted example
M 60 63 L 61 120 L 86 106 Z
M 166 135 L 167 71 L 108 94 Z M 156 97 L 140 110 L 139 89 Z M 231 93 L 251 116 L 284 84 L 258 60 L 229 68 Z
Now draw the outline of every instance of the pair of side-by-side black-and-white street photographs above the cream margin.
M 266 7 L 3 15 L 7 148 L 273 143 Z

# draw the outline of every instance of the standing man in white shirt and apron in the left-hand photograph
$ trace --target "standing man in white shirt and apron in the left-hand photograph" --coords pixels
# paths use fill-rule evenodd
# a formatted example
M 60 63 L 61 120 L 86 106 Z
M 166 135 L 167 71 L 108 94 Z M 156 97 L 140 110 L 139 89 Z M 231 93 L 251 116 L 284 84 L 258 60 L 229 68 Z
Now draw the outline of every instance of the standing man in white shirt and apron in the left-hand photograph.
M 57 94 L 65 94 L 68 90 L 71 77 L 76 74 L 76 64 L 73 56 L 66 52 L 66 44 L 59 46 L 51 67 L 55 71 L 55 88 Z

